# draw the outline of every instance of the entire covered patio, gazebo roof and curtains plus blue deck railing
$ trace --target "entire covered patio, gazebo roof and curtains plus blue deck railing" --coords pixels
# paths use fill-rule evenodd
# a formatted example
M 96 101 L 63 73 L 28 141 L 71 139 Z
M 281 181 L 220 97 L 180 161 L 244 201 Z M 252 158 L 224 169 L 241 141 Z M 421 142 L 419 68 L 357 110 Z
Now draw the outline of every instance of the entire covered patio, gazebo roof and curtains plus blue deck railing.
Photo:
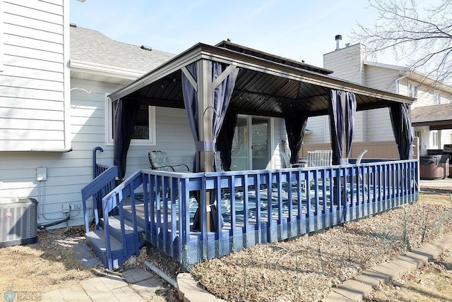
M 134 200 L 140 195 L 146 240 L 191 265 L 415 200 L 418 175 L 409 112 L 414 99 L 330 73 L 231 42 L 200 43 L 113 92 L 109 98 L 117 111 L 114 165 L 119 176 L 125 175 L 140 104 L 186 110 L 194 138 L 194 173 L 137 171 L 102 199 L 105 215 L 127 197 L 136 215 Z M 381 107 L 390 108 L 401 160 L 351 165 L 347 157 L 355 112 Z M 333 166 L 230 171 L 237 114 L 284 119 L 291 163 L 298 161 L 309 116 L 328 114 Z M 225 171 L 216 171 L 215 146 Z M 201 217 L 196 230 L 190 216 L 192 199 Z M 227 210 L 220 205 L 224 200 Z M 136 217 L 131 219 L 139 224 Z

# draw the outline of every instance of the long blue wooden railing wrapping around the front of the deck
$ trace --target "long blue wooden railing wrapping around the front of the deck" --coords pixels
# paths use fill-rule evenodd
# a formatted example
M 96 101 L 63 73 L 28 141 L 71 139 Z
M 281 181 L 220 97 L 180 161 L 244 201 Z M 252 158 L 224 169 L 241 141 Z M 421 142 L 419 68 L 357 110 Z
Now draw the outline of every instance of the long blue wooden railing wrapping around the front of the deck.
M 193 174 L 140 170 L 102 203 L 104 210 L 119 207 L 121 220 L 143 227 L 146 241 L 189 267 L 413 202 L 418 180 L 417 160 Z M 209 212 L 212 198 L 219 211 Z M 200 216 L 213 213 L 221 228 L 208 231 L 201 219 L 191 229 L 198 203 Z

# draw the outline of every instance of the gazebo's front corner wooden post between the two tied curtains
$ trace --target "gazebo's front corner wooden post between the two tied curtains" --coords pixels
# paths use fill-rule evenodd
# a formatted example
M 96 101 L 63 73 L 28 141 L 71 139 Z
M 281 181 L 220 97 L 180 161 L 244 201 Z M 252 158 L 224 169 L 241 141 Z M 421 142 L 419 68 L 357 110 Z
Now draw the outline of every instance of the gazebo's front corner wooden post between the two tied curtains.
M 198 131 L 201 142 L 213 141 L 213 85 L 212 85 L 212 61 L 202 59 L 198 61 Z M 199 169 L 204 172 L 213 171 L 213 150 L 200 152 Z M 202 193 L 201 193 L 202 194 Z M 201 217 L 200 222 L 206 219 L 207 231 L 213 231 L 213 221 L 210 215 L 210 194 L 206 191 L 207 215 Z M 201 213 L 201 211 L 200 211 Z M 201 228 L 202 229 L 202 228 Z

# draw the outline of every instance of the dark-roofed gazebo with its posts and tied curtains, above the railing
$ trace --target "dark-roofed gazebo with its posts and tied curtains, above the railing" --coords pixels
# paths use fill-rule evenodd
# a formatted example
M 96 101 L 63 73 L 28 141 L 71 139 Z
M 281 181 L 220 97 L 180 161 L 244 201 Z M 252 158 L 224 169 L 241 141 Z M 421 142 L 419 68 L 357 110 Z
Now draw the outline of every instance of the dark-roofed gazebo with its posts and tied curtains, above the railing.
M 201 164 L 196 171 L 213 171 L 215 143 L 225 170 L 230 168 L 227 137 L 235 120 L 227 116 L 237 114 L 285 119 L 292 163 L 298 160 L 308 117 L 329 114 L 333 163 L 339 164 L 347 158 L 343 148 L 350 148 L 354 112 L 389 107 L 397 144 L 406 149 L 399 150 L 400 158 L 410 158 L 409 105 L 415 99 L 339 80 L 331 73 L 232 42 L 196 44 L 109 95 L 117 101 L 116 133 L 121 133 L 114 138 L 114 164 L 124 176 L 139 104 L 186 109 Z

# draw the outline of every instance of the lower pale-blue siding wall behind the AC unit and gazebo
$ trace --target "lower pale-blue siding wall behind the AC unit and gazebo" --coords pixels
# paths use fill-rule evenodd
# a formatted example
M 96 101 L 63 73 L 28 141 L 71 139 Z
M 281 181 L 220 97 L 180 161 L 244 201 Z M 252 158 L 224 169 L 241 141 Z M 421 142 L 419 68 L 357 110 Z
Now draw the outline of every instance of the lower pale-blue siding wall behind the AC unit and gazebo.
M 39 203 L 38 222 L 45 224 L 63 219 L 70 209 L 69 225 L 83 224 L 81 189 L 93 179 L 93 148 L 100 146 L 97 162 L 112 166 L 113 145 L 106 133 L 106 94 L 121 85 L 92 80 L 71 79 L 71 152 L 1 152 L 0 196 L 35 198 Z M 283 119 L 271 119 L 271 167 L 281 167 L 279 148 L 287 141 Z M 138 169 L 149 169 L 148 152 L 164 150 L 174 164 L 193 165 L 194 142 L 184 109 L 155 107 L 155 145 L 133 144 L 127 156 L 126 177 Z M 37 181 L 36 169 L 47 169 L 47 179 Z M 71 207 L 72 208 L 72 207 Z

